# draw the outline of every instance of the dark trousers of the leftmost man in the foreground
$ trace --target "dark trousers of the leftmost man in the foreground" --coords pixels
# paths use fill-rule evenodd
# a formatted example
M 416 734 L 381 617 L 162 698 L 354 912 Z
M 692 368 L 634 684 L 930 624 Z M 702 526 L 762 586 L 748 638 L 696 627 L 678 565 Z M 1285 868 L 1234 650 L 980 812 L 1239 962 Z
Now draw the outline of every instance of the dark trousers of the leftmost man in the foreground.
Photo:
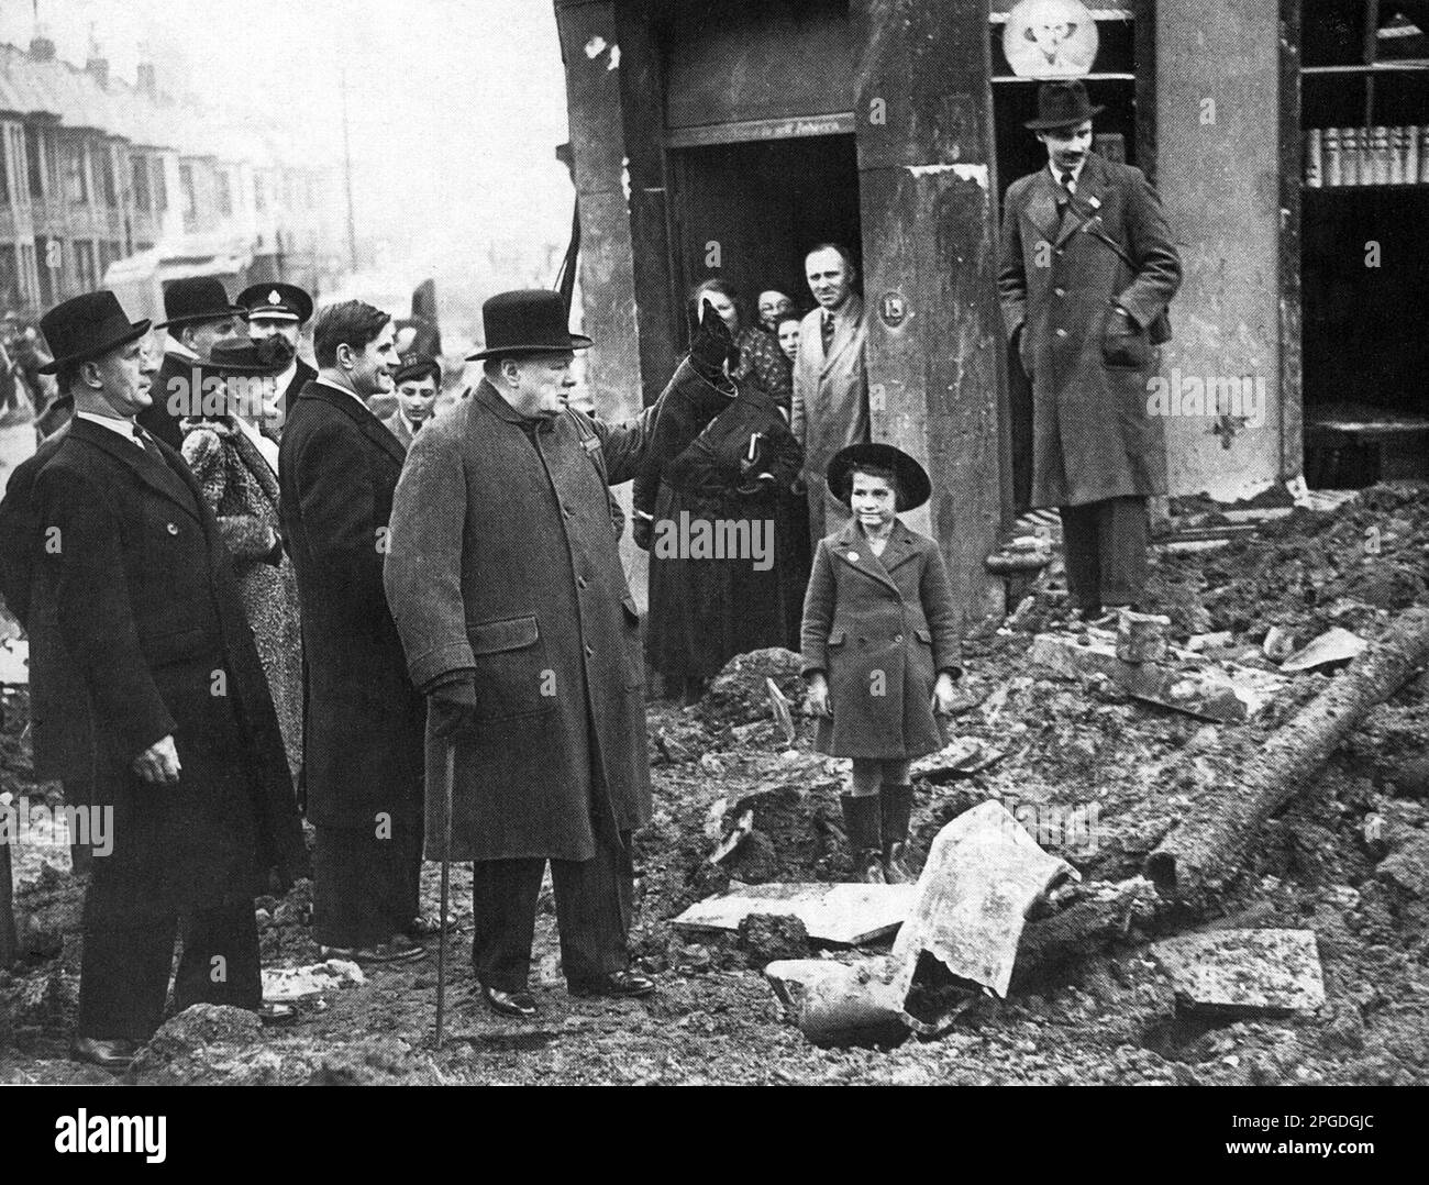
M 103 895 L 104 886 L 91 883 L 84 899 L 80 1036 L 140 1042 L 153 1036 L 164 1018 L 176 936 L 183 938 L 174 975 L 180 1012 L 193 1003 L 257 1009 L 263 1002 L 252 901 L 116 925 L 114 903 L 97 902 L 96 893 Z

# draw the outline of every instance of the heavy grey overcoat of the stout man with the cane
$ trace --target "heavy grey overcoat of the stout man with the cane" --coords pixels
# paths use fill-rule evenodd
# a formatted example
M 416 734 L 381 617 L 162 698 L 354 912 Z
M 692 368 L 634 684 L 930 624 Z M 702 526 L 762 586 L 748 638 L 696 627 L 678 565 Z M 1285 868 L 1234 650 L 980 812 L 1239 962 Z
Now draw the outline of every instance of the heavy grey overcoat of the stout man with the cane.
M 573 409 L 532 425 L 483 382 L 413 440 L 387 598 L 417 686 L 476 679 L 480 736 L 456 746 L 453 859 L 590 859 L 597 792 L 622 831 L 649 820 L 639 615 L 607 485 L 636 476 L 663 407 L 687 409 L 697 432 L 726 403 L 684 362 L 627 425 Z M 432 746 L 433 773 L 443 755 Z M 427 855 L 440 852 L 433 809 Z

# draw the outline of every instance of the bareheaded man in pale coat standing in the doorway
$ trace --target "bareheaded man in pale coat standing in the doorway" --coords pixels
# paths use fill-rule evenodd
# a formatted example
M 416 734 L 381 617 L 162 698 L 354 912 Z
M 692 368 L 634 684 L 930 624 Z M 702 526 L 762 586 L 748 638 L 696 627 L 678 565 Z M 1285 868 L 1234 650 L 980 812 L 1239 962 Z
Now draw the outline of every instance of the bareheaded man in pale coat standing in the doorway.
M 799 327 L 789 427 L 805 449 L 809 536 L 815 546 L 849 520 L 849 507 L 825 489 L 833 455 L 869 442 L 869 382 L 863 369 L 867 329 L 857 273 L 847 249 L 820 243 L 805 256 L 809 290 L 819 307 Z

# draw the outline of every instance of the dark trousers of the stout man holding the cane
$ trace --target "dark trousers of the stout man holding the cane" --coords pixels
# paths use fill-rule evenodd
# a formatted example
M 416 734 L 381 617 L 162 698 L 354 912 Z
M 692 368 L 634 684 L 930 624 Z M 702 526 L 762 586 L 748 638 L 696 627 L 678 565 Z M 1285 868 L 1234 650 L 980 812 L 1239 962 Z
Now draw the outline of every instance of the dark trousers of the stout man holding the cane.
M 532 939 L 536 936 L 536 901 L 544 859 L 477 861 L 472 866 L 472 911 L 476 936 L 472 962 L 476 978 L 502 992 L 526 991 Z M 590 983 L 626 971 L 626 936 L 634 896 L 630 832 L 619 838 L 604 828 L 596 832 L 596 856 L 589 861 L 552 861 L 556 888 L 556 922 L 560 926 L 560 962 L 566 982 Z

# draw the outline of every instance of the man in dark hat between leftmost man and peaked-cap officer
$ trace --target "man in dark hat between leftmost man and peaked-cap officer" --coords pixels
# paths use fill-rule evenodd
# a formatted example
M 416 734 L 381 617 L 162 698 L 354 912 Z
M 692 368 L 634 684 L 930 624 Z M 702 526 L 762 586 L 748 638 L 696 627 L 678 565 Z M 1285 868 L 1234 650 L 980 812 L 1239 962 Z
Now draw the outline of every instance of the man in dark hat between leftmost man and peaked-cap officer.
M 169 343 L 139 425 L 177 452 L 183 445 L 179 420 L 190 415 L 190 400 L 199 396 L 194 370 L 209 360 L 214 342 L 243 333 L 243 309 L 229 303 L 221 280 L 191 276 L 164 284 L 164 317 L 154 329 L 167 329 Z

